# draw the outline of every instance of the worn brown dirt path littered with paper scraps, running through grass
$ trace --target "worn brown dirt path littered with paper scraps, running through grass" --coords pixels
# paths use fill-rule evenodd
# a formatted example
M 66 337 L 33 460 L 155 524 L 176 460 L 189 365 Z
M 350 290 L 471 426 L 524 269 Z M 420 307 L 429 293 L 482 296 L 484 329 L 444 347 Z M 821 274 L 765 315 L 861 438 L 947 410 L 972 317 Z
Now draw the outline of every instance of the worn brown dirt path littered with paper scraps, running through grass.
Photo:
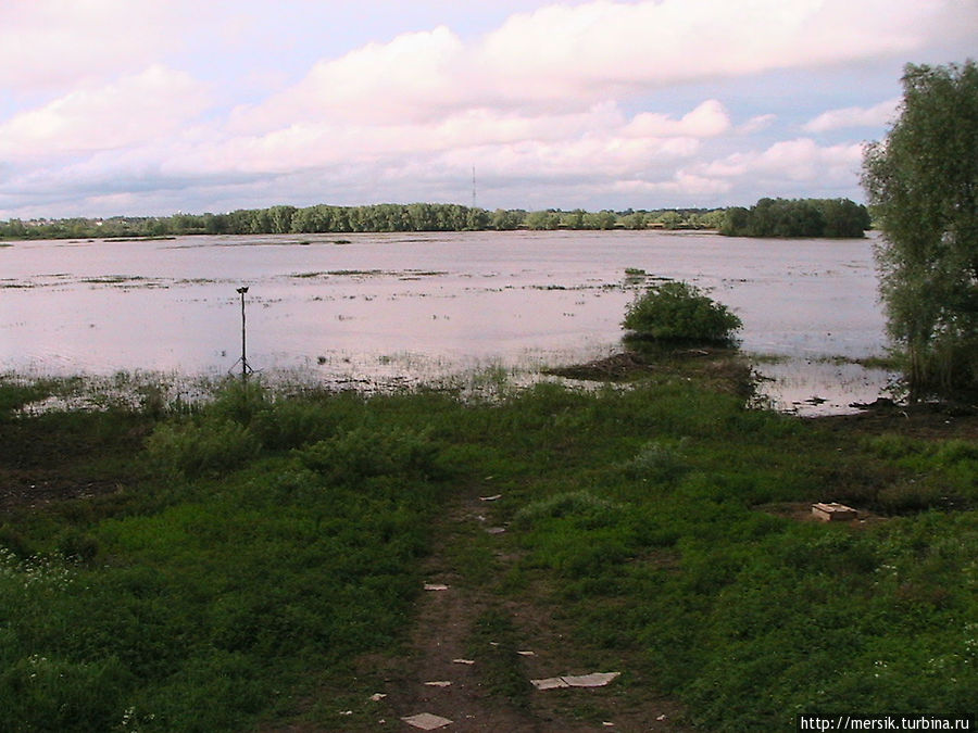
M 492 526 L 493 508 L 471 491 L 432 527 L 436 540 L 426 574 L 428 587 L 442 590 L 422 595 L 409 655 L 388 677 L 385 703 L 397 724 L 387 730 L 424 730 L 403 720 L 421 713 L 452 721 L 432 729 L 447 732 L 689 730 L 674 722 L 680 712 L 676 705 L 642 695 L 637 709 L 635 695 L 626 696 L 620 682 L 542 691 L 531 685 L 530 680 L 557 675 L 625 672 L 628 665 L 619 659 L 615 669 L 582 667 L 567 620 L 529 601 L 503 599 L 492 582 L 473 583 L 460 572 L 460 543 L 472 544 L 478 533 L 494 546 L 493 561 L 503 571 L 516 560 L 503 551 L 504 538 Z M 502 625 L 487 629 L 487 618 Z M 635 681 L 632 677 L 632 685 Z

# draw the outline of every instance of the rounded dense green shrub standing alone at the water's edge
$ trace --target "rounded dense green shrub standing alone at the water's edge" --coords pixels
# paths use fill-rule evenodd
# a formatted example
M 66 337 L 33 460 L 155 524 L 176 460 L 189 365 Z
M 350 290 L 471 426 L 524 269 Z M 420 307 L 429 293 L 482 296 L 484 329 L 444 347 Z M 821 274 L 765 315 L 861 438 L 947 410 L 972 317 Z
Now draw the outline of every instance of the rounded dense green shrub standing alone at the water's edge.
M 695 286 L 673 281 L 639 295 L 622 325 L 639 337 L 662 341 L 729 343 L 742 323 Z

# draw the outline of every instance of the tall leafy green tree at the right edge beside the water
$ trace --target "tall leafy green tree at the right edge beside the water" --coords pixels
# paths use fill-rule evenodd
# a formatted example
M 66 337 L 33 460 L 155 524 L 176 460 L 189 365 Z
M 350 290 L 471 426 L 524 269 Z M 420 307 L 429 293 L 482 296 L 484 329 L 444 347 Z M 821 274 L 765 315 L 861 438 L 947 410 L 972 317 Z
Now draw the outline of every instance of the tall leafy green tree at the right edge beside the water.
M 908 64 L 900 114 L 867 147 L 863 187 L 912 397 L 978 389 L 978 67 Z

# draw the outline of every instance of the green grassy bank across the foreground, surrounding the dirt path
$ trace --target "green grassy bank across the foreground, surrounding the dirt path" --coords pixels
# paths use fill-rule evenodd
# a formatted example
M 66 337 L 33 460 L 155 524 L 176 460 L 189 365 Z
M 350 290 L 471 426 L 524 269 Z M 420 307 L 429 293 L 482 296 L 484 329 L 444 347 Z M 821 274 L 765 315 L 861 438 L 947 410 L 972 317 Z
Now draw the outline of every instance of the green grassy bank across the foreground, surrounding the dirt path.
M 39 415 L 21 408 L 79 382 L 3 378 L 0 731 L 393 730 L 369 670 L 405 654 L 437 529 L 473 492 L 502 496 L 505 533 L 438 551 L 491 599 L 473 644 L 515 649 L 505 609 L 544 609 L 578 659 L 623 668 L 616 705 L 666 696 L 684 730 L 974 715 L 976 418 L 806 421 L 744 408 L 710 357 L 638 372 Z M 812 521 L 815 501 L 864 521 Z M 532 716 L 519 664 L 486 690 Z M 601 706 L 562 715 L 600 726 Z

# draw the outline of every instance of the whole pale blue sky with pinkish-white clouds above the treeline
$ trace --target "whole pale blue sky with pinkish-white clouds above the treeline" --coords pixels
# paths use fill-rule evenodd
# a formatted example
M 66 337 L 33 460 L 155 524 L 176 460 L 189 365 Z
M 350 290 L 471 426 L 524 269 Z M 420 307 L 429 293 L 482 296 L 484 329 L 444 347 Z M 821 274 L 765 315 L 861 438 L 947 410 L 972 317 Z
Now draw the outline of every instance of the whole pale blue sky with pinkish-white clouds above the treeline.
M 978 0 L 0 0 L 0 219 L 862 201 L 976 50 Z

